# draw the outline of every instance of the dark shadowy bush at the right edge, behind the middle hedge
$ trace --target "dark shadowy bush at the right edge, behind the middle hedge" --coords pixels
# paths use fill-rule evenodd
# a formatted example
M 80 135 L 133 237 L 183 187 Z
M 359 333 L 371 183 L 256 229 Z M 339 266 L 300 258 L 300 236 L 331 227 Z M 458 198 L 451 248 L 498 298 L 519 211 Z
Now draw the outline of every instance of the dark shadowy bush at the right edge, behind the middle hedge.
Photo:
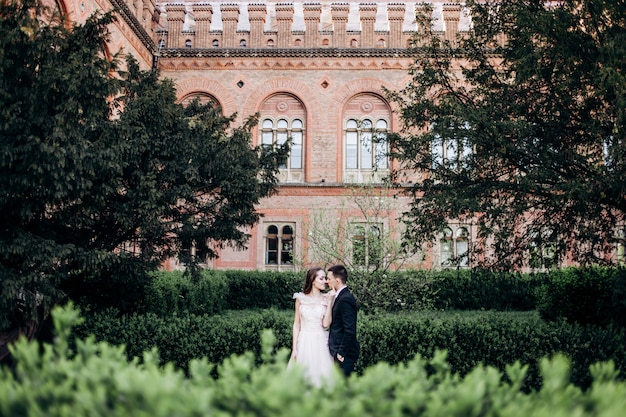
M 537 290 L 537 309 L 547 320 L 624 326 L 626 271 L 607 268 L 568 268 L 548 274 Z

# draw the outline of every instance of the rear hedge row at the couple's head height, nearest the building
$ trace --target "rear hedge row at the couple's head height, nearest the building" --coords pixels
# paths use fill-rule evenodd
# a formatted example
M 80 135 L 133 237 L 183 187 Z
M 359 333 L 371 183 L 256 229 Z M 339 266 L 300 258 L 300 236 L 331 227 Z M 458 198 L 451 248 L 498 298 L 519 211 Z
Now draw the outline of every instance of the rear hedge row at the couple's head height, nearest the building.
M 159 271 L 146 289 L 143 312 L 213 314 L 226 309 L 293 308 L 304 272 L 203 271 L 199 278 Z M 365 311 L 532 310 L 542 275 L 485 271 L 402 271 L 353 275 L 350 286 Z

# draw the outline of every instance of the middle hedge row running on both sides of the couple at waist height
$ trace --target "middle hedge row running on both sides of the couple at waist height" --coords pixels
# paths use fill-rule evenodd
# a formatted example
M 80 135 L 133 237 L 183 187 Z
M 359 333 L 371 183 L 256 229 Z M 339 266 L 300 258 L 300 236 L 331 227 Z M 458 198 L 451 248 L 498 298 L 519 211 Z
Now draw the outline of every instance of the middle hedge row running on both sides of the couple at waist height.
M 272 329 L 279 347 L 291 346 L 293 312 L 232 311 L 215 316 L 154 314 L 116 317 L 94 314 L 76 328 L 76 337 L 97 335 L 126 346 L 129 357 L 155 346 L 163 363 L 187 369 L 192 359 L 221 362 L 233 353 L 258 352 L 263 329 Z M 424 312 L 413 314 L 361 314 L 358 321 L 361 358 L 357 370 L 379 362 L 397 364 L 416 354 L 433 357 L 449 353 L 454 372 L 467 374 L 479 364 L 500 370 L 515 361 L 529 365 L 528 387 L 540 385 L 539 358 L 563 352 L 572 359 L 572 381 L 590 383 L 589 365 L 612 359 L 626 374 L 626 336 L 623 329 L 581 326 L 563 320 L 546 322 L 535 312 Z

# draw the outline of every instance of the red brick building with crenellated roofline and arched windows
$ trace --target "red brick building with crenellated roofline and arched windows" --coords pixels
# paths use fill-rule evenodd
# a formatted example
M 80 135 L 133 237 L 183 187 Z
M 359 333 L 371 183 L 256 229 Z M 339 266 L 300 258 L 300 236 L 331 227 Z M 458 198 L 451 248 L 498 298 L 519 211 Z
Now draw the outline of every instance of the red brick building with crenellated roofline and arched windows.
M 258 207 L 263 217 L 250 230 L 247 250 L 225 248 L 219 259 L 207 260 L 209 267 L 284 270 L 322 263 L 311 250 L 311 236 L 335 221 L 348 225 L 337 237 L 347 247 L 367 245 L 370 234 L 363 230 L 372 225 L 399 237 L 406 197 L 386 197 L 390 192 L 381 185 L 383 194 L 375 198 L 389 205 L 364 220 L 350 195 L 399 169 L 384 156 L 385 133 L 400 128 L 385 90 L 401 89 L 411 79 L 407 46 L 419 30 L 415 11 L 421 2 L 57 1 L 77 23 L 97 10 L 118 8 L 109 52 L 121 49 L 145 69 L 158 67 L 174 80 L 181 102 L 211 100 L 224 114 L 236 113 L 238 123 L 259 113 L 255 144 L 292 139 L 278 193 Z M 431 3 L 435 28 L 454 39 L 467 25 L 461 6 Z M 411 175 L 403 181 L 409 183 Z M 473 233 L 471 224 L 451 224 L 443 243 L 409 265 L 445 266 L 467 250 Z M 180 265 L 171 260 L 165 267 Z

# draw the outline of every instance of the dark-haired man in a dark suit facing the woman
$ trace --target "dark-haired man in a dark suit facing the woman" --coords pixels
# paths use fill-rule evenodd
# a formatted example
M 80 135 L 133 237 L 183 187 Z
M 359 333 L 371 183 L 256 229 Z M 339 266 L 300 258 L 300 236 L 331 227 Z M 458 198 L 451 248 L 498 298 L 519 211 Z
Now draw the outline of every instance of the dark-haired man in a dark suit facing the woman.
M 348 271 L 343 265 L 328 268 L 327 276 L 330 287 L 335 290 L 328 348 L 343 373 L 349 376 L 359 358 L 360 348 L 356 340 L 356 300 L 346 286 Z

